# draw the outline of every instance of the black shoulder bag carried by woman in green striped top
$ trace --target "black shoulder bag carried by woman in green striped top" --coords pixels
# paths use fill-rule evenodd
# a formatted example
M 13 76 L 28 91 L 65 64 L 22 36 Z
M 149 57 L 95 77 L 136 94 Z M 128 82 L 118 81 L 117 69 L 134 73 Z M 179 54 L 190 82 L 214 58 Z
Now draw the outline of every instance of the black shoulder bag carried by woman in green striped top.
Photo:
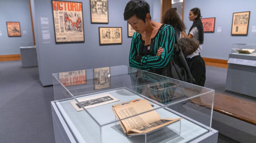
M 163 27 L 160 29 L 160 36 L 162 36 L 161 34 L 162 34 Z M 191 72 L 185 60 L 185 57 L 176 41 L 176 37 L 175 37 L 175 44 L 173 49 L 173 57 L 171 57 L 167 66 L 162 68 L 162 75 L 165 77 L 174 78 L 176 80 L 181 80 L 188 83 L 196 84 L 196 81 L 191 75 Z

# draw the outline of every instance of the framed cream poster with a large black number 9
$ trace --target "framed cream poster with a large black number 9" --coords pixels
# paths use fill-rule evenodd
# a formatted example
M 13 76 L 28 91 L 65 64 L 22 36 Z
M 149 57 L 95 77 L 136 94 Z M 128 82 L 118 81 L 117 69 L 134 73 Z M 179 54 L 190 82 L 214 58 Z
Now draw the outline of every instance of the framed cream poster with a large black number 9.
M 250 11 L 233 13 L 231 35 L 247 35 Z

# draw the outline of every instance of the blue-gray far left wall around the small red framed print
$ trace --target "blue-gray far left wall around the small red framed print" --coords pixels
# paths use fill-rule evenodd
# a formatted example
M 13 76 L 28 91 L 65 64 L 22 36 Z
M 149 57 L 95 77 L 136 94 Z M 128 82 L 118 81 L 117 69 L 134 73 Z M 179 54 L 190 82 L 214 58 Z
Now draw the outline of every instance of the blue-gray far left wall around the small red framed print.
M 34 45 L 28 0 L 0 0 L 0 18 L 0 55 L 20 54 L 19 47 Z M 22 36 L 8 37 L 6 21 L 20 22 Z

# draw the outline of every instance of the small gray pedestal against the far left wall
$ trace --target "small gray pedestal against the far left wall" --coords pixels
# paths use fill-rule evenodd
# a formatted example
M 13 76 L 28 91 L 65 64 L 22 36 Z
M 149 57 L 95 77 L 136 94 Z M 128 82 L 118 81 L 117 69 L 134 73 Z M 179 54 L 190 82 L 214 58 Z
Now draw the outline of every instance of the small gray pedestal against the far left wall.
M 37 52 L 35 47 L 20 47 L 22 67 L 37 66 Z

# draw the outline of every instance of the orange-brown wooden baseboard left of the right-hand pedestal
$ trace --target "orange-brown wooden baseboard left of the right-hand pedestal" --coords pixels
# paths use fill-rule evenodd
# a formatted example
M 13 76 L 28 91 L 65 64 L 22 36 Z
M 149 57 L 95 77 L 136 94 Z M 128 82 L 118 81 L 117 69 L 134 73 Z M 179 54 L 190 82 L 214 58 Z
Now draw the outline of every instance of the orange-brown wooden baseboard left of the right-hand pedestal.
M 207 57 L 202 57 L 204 59 L 205 65 L 207 66 L 216 66 L 219 68 L 228 68 L 228 60 L 221 59 L 211 59 Z

